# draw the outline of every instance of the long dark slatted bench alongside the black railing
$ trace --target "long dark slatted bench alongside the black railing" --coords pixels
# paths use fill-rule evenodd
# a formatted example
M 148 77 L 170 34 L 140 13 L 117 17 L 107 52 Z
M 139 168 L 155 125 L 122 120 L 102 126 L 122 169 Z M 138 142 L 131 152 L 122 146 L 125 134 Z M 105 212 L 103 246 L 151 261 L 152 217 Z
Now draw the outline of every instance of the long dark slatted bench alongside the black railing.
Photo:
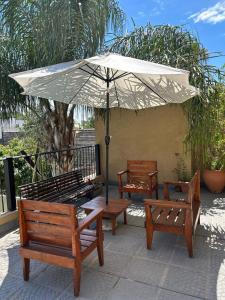
M 85 182 L 79 170 L 20 186 L 21 198 L 60 203 L 92 198 L 94 190 L 94 184 Z

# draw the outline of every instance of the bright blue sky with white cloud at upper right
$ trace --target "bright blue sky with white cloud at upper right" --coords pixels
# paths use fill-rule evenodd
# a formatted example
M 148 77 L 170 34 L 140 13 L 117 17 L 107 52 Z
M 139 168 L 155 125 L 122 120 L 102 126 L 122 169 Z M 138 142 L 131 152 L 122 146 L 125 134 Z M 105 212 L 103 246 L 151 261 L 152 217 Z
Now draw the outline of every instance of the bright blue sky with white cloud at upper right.
M 126 30 L 150 22 L 153 25 L 185 25 L 199 36 L 209 52 L 225 55 L 225 0 L 119 0 L 127 17 Z M 225 56 L 210 60 L 221 67 Z

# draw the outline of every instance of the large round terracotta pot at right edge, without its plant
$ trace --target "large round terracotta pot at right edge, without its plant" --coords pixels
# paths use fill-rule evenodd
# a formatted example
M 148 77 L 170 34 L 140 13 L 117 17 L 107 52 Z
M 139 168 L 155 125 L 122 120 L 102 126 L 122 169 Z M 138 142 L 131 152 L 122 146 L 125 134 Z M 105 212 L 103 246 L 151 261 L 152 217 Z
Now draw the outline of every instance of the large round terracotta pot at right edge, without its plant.
M 225 187 L 225 171 L 204 170 L 203 179 L 212 193 L 221 193 Z

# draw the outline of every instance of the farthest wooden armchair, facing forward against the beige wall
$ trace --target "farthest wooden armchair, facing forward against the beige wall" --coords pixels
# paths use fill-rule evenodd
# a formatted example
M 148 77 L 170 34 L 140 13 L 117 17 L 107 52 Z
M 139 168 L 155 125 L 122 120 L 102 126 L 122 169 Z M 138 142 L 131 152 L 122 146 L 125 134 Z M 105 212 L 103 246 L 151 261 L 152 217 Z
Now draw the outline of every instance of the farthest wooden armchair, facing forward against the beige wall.
M 127 182 L 123 184 L 122 175 L 127 174 Z M 117 173 L 120 198 L 123 193 L 146 194 L 152 197 L 153 191 L 158 199 L 158 170 L 154 160 L 128 160 L 127 170 Z

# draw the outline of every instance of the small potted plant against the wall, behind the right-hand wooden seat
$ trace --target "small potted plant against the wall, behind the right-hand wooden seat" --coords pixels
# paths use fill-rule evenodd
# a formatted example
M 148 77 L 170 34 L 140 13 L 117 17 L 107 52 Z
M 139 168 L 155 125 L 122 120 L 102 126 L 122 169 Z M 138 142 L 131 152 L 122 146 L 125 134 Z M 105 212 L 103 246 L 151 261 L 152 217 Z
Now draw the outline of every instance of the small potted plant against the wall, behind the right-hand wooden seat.
M 174 172 L 177 176 L 178 181 L 184 182 L 184 184 L 178 185 L 175 187 L 176 191 L 183 193 L 188 192 L 187 182 L 191 179 L 191 174 L 187 170 L 187 165 L 185 163 L 184 158 L 180 155 L 180 153 L 175 153 L 177 157 L 177 167 L 174 169 Z

